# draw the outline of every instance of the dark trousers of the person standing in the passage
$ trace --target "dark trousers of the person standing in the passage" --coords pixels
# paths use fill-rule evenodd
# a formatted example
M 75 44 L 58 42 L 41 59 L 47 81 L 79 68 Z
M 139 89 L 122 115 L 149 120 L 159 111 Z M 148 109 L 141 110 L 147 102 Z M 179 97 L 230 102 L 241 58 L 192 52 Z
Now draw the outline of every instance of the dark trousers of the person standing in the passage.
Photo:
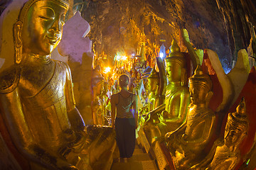
M 135 148 L 135 119 L 134 118 L 116 118 L 115 120 L 117 147 L 120 157 L 132 157 Z

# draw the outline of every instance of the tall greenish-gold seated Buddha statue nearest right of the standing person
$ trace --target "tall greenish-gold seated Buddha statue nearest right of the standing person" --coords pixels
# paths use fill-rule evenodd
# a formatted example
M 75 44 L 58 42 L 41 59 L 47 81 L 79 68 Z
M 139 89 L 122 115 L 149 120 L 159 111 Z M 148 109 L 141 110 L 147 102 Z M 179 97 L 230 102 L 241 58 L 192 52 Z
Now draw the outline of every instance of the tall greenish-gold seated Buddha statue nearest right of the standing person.
M 175 40 L 171 45 L 171 53 L 166 57 L 166 86 L 165 102 L 146 118 L 146 124 L 157 125 L 164 137 L 166 132 L 174 131 L 186 119 L 189 104 L 189 92 L 186 86 L 186 60 Z

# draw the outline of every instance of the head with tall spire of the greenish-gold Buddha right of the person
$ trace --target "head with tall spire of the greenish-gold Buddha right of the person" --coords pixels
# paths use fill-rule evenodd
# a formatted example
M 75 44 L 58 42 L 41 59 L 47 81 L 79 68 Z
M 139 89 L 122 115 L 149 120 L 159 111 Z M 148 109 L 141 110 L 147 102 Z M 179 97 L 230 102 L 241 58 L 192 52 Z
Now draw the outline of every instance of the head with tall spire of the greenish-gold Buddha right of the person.
M 165 61 L 166 77 L 169 82 L 181 82 L 181 86 L 183 86 L 186 80 L 186 60 L 176 40 L 171 42 L 171 53 Z

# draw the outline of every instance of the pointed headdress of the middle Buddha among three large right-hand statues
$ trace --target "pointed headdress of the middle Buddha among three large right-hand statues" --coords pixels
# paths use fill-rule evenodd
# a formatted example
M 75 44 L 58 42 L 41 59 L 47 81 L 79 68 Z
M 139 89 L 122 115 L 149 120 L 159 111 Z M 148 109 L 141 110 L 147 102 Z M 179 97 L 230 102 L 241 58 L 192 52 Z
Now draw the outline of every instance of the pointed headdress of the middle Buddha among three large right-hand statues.
M 208 89 L 208 91 L 210 91 L 212 88 L 210 77 L 203 73 L 200 65 L 196 67 L 195 74 L 188 78 L 188 82 L 189 84 L 200 84 L 201 86 L 204 86 L 206 89 Z

